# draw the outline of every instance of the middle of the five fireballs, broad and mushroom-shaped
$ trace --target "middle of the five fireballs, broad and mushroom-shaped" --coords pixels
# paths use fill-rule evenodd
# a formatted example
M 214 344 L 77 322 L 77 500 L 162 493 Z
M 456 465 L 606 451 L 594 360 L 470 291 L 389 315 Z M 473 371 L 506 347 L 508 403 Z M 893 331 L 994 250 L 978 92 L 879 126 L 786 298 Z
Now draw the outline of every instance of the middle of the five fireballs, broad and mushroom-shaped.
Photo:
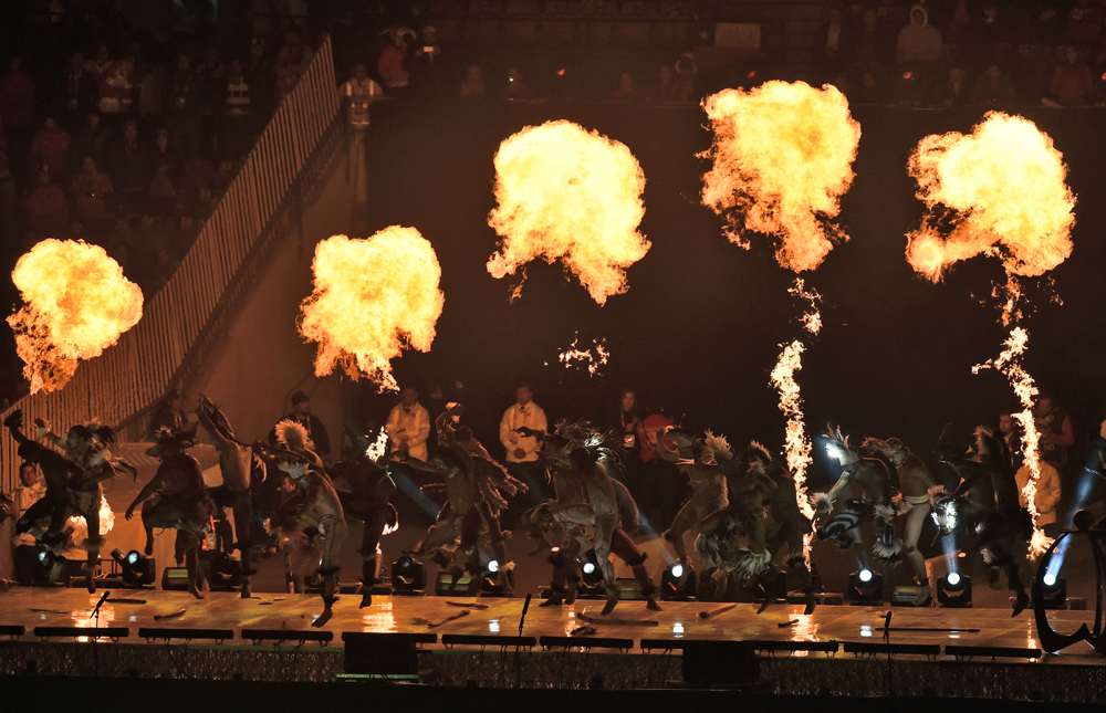
M 626 292 L 626 269 L 650 247 L 637 230 L 643 190 L 645 174 L 624 144 L 565 120 L 528 126 L 495 154 L 499 206 L 488 223 L 502 241 L 488 272 L 501 279 L 539 258 L 560 260 L 605 304 Z

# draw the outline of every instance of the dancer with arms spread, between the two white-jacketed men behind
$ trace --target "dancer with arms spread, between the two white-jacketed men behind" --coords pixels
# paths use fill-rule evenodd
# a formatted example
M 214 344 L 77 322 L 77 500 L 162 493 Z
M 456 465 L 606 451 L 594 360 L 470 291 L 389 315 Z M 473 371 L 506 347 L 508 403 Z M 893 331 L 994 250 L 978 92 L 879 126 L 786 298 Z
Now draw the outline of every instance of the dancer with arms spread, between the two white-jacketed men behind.
M 449 573 L 450 589 L 457 586 L 467 570 L 470 577 L 468 594 L 472 595 L 479 591 L 483 574 L 478 543 L 482 535 L 489 534 L 492 554 L 500 565 L 498 580 L 510 596 L 513 587 L 509 573 L 514 565 L 507 560 L 503 544 L 507 534 L 500 526 L 499 516 L 507 507 L 503 493 L 513 496 L 525 492 L 526 485 L 492 460 L 470 429 L 455 424 L 453 419 L 460 412 L 459 405 L 451 405 L 438 417 L 438 449 L 430 462 L 408 457 L 397 465 L 445 476 L 446 481 L 447 502 L 414 554 L 428 557 L 442 572 Z M 467 559 L 463 570 L 455 562 L 458 551 Z

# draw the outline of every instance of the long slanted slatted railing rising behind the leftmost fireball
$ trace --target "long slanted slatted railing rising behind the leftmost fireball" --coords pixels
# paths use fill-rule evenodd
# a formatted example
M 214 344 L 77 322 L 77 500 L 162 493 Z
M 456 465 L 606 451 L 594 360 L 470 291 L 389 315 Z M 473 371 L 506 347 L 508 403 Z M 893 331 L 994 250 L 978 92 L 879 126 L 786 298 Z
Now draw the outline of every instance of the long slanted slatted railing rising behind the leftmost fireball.
M 173 277 L 143 306 L 142 321 L 102 356 L 81 363 L 61 390 L 14 403 L 12 409 L 23 409 L 24 424 L 43 418 L 56 430 L 97 418 L 125 438 L 140 438 L 143 417 L 188 378 L 263 258 L 299 221 L 307 192 L 344 137 L 335 86 L 327 38 Z M 14 486 L 19 462 L 15 443 L 0 436 L 0 492 Z

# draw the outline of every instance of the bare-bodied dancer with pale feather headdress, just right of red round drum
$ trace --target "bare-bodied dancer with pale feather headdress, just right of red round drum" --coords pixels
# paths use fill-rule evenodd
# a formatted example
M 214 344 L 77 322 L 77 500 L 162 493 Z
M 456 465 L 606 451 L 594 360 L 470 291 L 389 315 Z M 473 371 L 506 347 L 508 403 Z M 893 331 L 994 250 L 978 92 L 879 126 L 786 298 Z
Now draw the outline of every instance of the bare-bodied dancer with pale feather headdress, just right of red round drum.
M 669 442 L 676 448 L 669 449 Z M 667 427 L 657 438 L 657 455 L 670 463 L 678 463 L 679 470 L 688 476 L 691 485 L 691 497 L 676 513 L 664 535 L 676 551 L 677 564 L 684 565 L 686 569 L 691 563 L 684 542 L 685 535 L 690 533 L 692 538 L 697 537 L 699 524 L 708 515 L 726 510 L 730 504 L 726 474 L 714 458 L 714 452 L 720 448 L 720 441 L 709 432 L 706 439 L 696 438 L 690 431 L 672 426 Z M 699 587 L 710 588 L 712 572 L 705 567 L 700 569 Z

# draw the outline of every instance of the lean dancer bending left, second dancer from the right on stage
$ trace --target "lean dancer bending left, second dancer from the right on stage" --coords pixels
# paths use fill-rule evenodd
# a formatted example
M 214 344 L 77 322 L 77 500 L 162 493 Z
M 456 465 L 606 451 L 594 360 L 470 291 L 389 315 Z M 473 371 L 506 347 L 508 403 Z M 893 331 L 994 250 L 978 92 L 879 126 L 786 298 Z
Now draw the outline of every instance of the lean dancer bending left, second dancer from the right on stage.
M 926 558 L 918 552 L 918 538 L 932 510 L 929 491 L 936 484 L 929 475 L 925 461 L 915 455 L 897 438 L 889 438 L 886 441 L 869 438 L 864 441 L 862 448 L 868 453 L 883 453 L 898 473 L 900 496 L 895 499 L 894 504 L 897 514 L 906 514 L 902 553 L 914 567 L 915 579 L 921 585 L 921 590 L 914 600 L 914 606 L 920 607 L 932 596 L 932 590 L 929 586 L 929 574 L 926 572 Z

